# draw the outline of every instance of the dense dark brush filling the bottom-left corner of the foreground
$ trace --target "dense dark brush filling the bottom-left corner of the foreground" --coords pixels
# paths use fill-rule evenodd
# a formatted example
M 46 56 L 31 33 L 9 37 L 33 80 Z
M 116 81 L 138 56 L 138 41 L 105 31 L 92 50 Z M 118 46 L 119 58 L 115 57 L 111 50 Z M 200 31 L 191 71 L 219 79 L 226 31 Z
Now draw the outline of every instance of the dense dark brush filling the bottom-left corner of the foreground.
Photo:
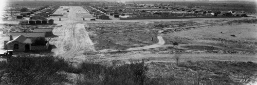
M 8 62 L 0 62 L 0 70 L 5 69 L 7 77 L 1 84 L 52 84 L 67 81 L 64 71 L 70 67 L 62 58 L 53 56 L 11 57 Z

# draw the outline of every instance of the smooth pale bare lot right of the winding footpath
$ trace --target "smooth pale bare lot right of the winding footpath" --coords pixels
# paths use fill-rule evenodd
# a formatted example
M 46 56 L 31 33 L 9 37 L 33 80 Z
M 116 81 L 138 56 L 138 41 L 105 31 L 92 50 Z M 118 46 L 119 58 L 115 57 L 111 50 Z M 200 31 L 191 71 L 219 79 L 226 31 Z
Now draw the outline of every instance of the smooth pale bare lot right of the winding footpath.
M 255 25 L 257 24 L 201 27 L 163 34 L 163 37 L 166 44 L 177 41 L 180 44 L 213 45 L 223 47 L 223 50 L 256 53 L 257 29 Z

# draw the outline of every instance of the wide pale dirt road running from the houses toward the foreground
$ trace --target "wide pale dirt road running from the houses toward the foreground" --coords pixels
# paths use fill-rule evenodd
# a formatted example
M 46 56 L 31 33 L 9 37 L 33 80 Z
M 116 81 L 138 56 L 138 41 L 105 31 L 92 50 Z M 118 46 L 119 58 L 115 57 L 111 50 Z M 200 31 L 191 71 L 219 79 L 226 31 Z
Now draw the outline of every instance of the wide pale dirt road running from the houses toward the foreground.
M 86 25 L 86 23 L 81 24 L 83 21 L 80 16 L 86 11 L 83 10 L 82 7 L 68 8 L 70 8 L 70 12 L 67 13 L 68 17 L 63 18 L 62 21 L 57 21 L 57 23 L 63 26 L 53 30 L 56 33 L 61 33 L 59 37 L 56 38 L 56 42 L 54 42 L 57 49 L 53 49 L 53 52 L 63 58 L 77 61 L 78 59 L 83 59 L 83 53 L 96 52 L 96 50 L 93 42 L 89 38 L 88 32 L 85 30 L 84 25 Z

